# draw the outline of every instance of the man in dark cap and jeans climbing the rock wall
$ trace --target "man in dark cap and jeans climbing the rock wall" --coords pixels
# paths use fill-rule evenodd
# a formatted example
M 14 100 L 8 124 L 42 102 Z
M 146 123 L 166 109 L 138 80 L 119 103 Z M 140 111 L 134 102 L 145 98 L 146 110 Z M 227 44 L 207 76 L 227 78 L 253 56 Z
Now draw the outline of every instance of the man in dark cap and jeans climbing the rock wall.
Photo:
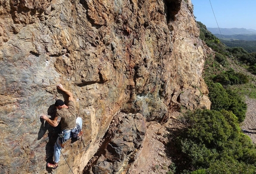
M 68 105 L 65 105 L 63 100 L 56 100 L 55 107 L 57 108 L 56 116 L 53 120 L 48 116 L 42 115 L 41 118 L 48 122 L 51 126 L 58 126 L 61 122 L 61 131 L 63 134 L 59 134 L 54 144 L 54 163 L 46 163 L 46 166 L 52 169 L 56 169 L 58 162 L 60 161 L 61 148 L 64 148 L 64 142 L 71 138 L 71 129 L 76 128 L 76 107 L 74 106 L 73 94 L 63 88 L 61 84 L 57 85 L 57 88 L 63 91 L 68 96 Z

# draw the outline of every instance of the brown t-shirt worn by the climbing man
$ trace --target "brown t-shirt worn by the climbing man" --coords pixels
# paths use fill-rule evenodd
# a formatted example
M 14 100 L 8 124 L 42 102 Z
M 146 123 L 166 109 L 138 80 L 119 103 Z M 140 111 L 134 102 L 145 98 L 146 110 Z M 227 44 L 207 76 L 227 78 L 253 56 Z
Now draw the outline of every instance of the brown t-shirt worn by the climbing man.
M 73 101 L 68 101 L 68 108 L 57 109 L 56 116 L 61 118 L 61 131 L 76 127 L 76 107 Z

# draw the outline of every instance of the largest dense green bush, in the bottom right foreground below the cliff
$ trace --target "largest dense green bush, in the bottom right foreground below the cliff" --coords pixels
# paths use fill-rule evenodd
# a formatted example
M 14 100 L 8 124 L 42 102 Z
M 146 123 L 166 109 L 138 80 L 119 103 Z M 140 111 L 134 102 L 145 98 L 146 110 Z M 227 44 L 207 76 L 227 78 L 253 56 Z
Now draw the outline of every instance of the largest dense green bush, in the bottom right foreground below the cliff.
M 175 139 L 193 173 L 254 171 L 256 148 L 239 128 L 232 112 L 195 110 L 184 116 L 188 124 Z M 185 164 L 186 165 L 186 164 Z M 246 169 L 248 166 L 248 170 Z

